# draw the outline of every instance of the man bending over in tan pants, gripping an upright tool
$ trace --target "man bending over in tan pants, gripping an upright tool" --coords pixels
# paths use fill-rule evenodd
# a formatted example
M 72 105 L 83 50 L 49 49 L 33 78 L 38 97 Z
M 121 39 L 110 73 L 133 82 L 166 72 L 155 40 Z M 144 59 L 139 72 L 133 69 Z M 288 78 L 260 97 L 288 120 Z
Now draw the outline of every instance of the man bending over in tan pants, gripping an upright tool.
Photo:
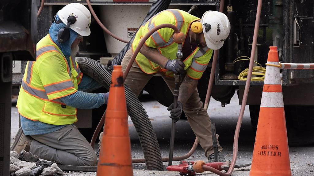
M 182 74 L 184 79 L 179 90 L 178 107 L 174 109 L 173 104 L 169 106 L 170 118 L 178 121 L 183 110 L 200 145 L 205 150 L 208 161 L 214 162 L 211 121 L 200 101 L 197 85 L 198 79 L 202 77 L 207 68 L 213 49 L 221 48 L 229 35 L 229 20 L 225 14 L 216 11 L 205 12 L 202 19 L 182 10 L 162 11 L 149 19 L 138 30 L 132 48 L 127 51 L 122 60 L 123 71 L 140 39 L 149 30 L 164 23 L 175 25 L 185 34 L 186 38 L 182 48 L 183 61 L 176 59 L 178 44 L 173 42 L 174 30 L 171 28 L 159 29 L 147 39 L 141 48 L 125 83 L 138 96 L 149 79 L 153 76 L 162 76 L 173 93 L 175 85 L 173 75 L 174 73 Z M 225 162 L 220 145 L 218 150 L 219 161 Z

